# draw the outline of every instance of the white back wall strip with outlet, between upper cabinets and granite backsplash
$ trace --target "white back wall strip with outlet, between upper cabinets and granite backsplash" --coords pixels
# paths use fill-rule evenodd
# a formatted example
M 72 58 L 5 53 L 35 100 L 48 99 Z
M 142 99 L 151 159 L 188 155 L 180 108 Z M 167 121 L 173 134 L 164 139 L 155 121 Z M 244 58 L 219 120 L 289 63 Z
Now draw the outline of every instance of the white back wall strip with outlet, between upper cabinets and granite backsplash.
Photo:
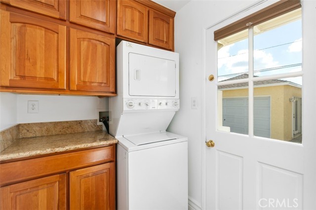
M 39 101 L 39 113 L 28 113 L 28 101 Z M 17 95 L 17 122 L 34 123 L 97 119 L 97 108 L 108 110 L 108 99 L 93 96 L 21 94 Z

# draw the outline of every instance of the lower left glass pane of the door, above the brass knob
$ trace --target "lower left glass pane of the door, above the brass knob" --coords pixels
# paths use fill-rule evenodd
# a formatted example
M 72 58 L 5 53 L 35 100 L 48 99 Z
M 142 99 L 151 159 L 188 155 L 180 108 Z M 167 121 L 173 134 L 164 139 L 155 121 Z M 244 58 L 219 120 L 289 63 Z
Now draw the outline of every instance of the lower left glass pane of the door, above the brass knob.
M 218 130 L 248 134 L 248 83 L 218 86 Z

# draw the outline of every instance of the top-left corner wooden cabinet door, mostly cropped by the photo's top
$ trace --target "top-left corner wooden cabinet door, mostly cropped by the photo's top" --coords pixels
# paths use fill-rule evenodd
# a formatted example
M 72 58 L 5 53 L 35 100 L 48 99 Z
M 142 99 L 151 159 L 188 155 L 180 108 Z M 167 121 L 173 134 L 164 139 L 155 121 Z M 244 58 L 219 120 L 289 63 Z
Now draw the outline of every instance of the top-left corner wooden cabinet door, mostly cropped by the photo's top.
M 12 6 L 66 20 L 66 0 L 1 0 Z

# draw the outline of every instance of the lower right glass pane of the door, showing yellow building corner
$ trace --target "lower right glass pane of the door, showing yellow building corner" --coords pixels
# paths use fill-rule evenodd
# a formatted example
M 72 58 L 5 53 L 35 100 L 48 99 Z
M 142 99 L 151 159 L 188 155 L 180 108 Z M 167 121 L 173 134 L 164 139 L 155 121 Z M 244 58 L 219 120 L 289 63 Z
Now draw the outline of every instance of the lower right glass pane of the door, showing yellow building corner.
M 254 82 L 254 136 L 302 143 L 302 77 Z

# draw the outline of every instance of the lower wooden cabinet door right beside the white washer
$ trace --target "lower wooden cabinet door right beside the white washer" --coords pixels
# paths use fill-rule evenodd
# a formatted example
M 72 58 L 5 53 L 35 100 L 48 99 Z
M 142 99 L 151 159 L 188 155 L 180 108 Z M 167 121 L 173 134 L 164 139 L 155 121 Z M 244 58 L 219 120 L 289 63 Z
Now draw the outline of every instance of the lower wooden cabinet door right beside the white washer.
M 115 163 L 70 172 L 71 210 L 115 210 Z

